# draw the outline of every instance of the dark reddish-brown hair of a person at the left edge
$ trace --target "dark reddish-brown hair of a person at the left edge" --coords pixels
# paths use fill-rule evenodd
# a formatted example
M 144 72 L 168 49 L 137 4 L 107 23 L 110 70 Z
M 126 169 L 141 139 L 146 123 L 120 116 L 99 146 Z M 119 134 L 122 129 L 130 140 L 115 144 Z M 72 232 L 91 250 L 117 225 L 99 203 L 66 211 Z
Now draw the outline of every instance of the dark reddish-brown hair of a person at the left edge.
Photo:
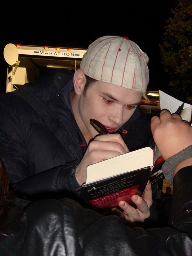
M 5 165 L 0 158 L 0 223 L 4 223 L 14 200 L 14 193 L 9 191 L 9 180 Z

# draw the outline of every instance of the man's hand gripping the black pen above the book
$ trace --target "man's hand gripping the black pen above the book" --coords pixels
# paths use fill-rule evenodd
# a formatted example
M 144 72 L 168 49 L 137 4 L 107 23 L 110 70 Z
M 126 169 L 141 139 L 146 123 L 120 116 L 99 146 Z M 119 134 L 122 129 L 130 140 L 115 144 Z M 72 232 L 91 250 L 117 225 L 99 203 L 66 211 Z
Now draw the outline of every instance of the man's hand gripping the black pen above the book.
M 86 181 L 86 168 L 90 164 L 95 164 L 107 160 L 114 156 L 119 156 L 129 152 L 120 134 L 107 134 L 95 137 L 90 142 L 84 157 L 76 168 L 76 180 L 79 185 Z

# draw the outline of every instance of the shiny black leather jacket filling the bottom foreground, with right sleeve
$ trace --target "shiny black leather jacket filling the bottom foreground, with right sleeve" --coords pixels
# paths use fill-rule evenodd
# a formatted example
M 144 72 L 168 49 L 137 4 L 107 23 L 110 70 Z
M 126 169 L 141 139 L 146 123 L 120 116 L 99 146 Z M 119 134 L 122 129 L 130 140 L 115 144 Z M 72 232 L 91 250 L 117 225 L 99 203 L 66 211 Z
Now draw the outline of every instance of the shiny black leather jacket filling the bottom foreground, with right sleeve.
M 130 228 L 117 216 L 102 216 L 71 199 L 42 200 L 2 232 L 0 255 L 191 255 L 192 166 L 174 177 L 169 222 L 165 228 Z

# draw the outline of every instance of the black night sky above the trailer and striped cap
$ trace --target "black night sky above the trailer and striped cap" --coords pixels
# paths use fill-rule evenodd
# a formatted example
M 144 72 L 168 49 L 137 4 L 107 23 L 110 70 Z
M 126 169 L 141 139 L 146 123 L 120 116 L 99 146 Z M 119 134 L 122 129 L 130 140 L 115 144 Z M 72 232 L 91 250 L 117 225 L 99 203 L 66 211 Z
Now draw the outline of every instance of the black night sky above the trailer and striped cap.
M 149 56 L 148 90 L 170 92 L 169 77 L 164 73 L 158 45 L 163 42 L 164 26 L 171 9 L 176 6 L 175 1 L 142 1 L 142 4 L 140 1 L 135 4 L 97 1 L 92 2 L 93 7 L 87 3 L 63 6 L 52 3 L 50 6 L 45 4 L 46 8 L 30 7 L 25 3 L 25 12 L 16 11 L 14 7 L 11 10 L 5 8 L 7 20 L 0 20 L 0 93 L 5 91 L 6 84 L 3 57 L 6 44 L 87 48 L 98 37 L 106 35 L 127 36 L 137 43 Z M 20 9 L 18 7 L 17 4 Z

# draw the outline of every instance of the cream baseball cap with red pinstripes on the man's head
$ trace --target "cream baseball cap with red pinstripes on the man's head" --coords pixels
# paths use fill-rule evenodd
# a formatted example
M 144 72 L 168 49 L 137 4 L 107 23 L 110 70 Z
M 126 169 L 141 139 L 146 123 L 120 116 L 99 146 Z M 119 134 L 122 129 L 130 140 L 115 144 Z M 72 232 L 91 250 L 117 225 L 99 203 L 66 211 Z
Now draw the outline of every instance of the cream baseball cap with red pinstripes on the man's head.
M 96 80 L 146 92 L 148 56 L 127 37 L 103 36 L 89 45 L 80 69 Z

